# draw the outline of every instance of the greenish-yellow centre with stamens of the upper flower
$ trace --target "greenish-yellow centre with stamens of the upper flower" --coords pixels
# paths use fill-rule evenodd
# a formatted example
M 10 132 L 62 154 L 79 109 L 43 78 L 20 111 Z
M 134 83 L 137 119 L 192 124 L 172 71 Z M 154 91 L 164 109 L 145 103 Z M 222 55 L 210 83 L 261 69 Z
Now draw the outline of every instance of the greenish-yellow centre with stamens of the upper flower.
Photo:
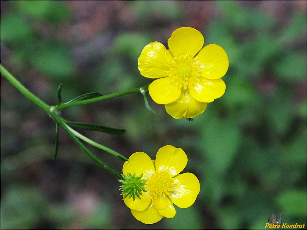
M 191 54 L 174 57 L 170 64 L 169 76 L 173 77 L 180 88 L 186 90 L 188 85 L 199 82 L 200 68 L 196 61 L 198 57 L 191 57 Z

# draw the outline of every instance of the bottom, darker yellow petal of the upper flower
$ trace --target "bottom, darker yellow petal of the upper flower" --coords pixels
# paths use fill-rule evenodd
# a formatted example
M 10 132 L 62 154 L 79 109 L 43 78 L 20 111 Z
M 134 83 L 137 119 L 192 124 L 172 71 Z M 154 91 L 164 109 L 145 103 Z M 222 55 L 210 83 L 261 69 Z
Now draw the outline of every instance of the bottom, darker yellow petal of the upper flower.
M 181 93 L 181 96 L 172 103 L 166 104 L 166 112 L 176 119 L 181 117 L 193 118 L 203 113 L 207 103 L 196 101 L 188 90 Z

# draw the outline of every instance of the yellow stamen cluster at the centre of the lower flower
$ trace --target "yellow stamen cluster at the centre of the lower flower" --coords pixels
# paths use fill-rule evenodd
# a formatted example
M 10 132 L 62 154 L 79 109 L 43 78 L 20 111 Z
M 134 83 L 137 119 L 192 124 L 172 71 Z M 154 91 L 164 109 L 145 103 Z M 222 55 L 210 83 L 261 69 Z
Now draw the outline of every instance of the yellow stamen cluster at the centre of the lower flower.
M 169 196 L 174 189 L 174 179 L 172 175 L 165 172 L 155 172 L 147 180 L 146 190 L 149 191 L 150 196 L 156 197 L 159 195 Z

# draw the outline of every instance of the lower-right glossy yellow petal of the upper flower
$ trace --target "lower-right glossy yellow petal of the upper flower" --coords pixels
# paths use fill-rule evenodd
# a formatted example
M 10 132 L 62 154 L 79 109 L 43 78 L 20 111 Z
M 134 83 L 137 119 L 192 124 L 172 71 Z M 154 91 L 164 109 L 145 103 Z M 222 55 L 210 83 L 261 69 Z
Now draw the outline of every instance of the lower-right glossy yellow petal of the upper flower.
M 225 93 L 226 85 L 222 79 L 199 78 L 188 86 L 192 97 L 199 102 L 213 102 L 214 99 L 220 98 Z

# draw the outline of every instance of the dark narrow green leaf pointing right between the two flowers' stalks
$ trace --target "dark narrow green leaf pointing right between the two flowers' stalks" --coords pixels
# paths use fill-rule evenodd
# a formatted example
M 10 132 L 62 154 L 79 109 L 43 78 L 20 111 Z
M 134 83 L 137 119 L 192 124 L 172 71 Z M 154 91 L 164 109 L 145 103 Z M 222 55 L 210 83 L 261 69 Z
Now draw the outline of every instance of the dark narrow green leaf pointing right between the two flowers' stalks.
M 122 134 L 126 132 L 125 129 L 120 128 L 110 128 L 102 125 L 95 125 L 95 124 L 87 124 L 87 123 L 81 123 L 81 122 L 74 122 L 74 121 L 64 121 L 67 125 L 73 127 L 73 128 L 81 128 L 85 130 L 93 130 L 98 132 L 106 132 L 110 134 Z

